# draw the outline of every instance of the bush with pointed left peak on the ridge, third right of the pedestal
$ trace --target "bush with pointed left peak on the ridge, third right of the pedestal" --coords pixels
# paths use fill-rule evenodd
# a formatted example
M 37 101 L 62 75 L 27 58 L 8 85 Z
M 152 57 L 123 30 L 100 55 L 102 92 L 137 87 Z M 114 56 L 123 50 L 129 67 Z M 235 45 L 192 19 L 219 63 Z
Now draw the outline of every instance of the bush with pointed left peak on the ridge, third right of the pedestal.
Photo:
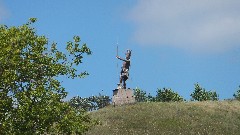
M 196 100 L 196 101 L 218 100 L 218 94 L 216 93 L 216 91 L 206 91 L 198 83 L 194 85 L 195 85 L 195 90 L 191 94 L 192 100 Z

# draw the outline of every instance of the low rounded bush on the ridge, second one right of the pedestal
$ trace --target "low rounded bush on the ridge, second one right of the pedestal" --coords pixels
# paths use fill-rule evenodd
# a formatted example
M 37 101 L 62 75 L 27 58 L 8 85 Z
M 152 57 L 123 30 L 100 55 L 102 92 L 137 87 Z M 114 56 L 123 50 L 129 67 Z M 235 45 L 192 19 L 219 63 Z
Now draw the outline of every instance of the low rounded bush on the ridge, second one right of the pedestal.
M 170 88 L 163 88 L 163 89 L 158 89 L 157 91 L 157 96 L 156 96 L 156 101 L 157 102 L 170 102 L 170 101 L 183 101 L 183 98 Z

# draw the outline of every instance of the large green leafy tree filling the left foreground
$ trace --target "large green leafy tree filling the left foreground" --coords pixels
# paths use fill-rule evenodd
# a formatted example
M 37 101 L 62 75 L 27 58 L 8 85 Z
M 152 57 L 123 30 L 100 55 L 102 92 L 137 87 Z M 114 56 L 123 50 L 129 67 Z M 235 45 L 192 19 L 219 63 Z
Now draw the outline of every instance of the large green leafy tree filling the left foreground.
M 35 21 L 0 26 L 0 134 L 81 134 L 93 122 L 63 102 L 67 92 L 57 77 L 88 75 L 76 66 L 91 50 L 74 36 L 67 51 L 59 51 L 57 43 L 37 35 Z

